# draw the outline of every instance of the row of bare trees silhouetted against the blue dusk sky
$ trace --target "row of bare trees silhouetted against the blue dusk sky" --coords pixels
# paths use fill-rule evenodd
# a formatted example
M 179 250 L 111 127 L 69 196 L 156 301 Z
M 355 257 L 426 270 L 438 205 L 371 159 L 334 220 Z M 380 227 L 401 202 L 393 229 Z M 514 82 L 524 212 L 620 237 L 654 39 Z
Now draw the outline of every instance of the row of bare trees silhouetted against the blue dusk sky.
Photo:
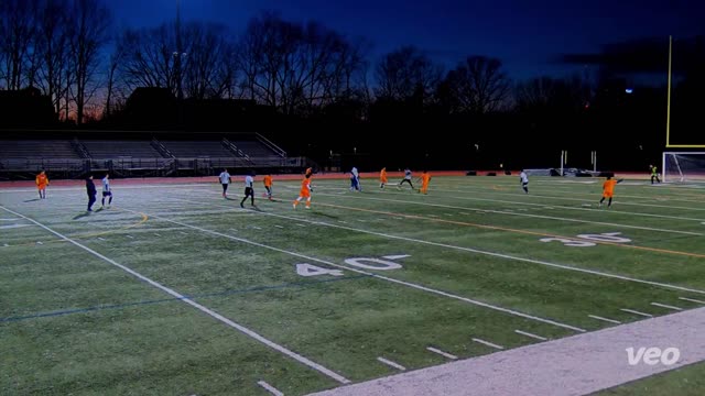
M 468 55 L 445 70 L 404 46 L 370 59 L 371 43 L 319 22 L 274 12 L 240 32 L 177 19 L 122 29 L 101 0 L 0 2 L 0 89 L 35 87 L 63 119 L 109 116 L 138 87 L 177 98 L 250 99 L 283 114 L 336 103 L 401 103 L 447 114 L 579 109 L 593 90 L 582 76 L 514 84 L 500 59 Z

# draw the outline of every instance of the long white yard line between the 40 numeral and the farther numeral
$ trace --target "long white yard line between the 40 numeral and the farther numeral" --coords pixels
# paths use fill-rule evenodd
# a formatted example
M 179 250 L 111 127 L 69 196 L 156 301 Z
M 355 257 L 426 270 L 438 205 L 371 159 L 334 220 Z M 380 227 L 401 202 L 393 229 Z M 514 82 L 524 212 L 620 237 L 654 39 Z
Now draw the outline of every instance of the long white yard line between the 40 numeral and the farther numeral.
M 187 202 L 203 205 L 203 202 L 195 202 L 195 201 L 191 201 L 191 200 L 187 200 L 187 199 L 182 199 L 182 198 L 176 198 L 176 199 L 181 199 L 181 200 L 187 201 Z M 215 205 L 215 204 L 209 204 L 209 205 Z M 242 210 L 242 209 L 232 208 L 232 210 Z M 571 265 L 555 264 L 555 263 L 550 263 L 550 262 L 541 261 L 541 260 L 519 257 L 519 256 L 513 256 L 513 255 L 509 255 L 509 254 L 502 254 L 502 253 L 496 253 L 496 252 L 489 252 L 489 251 L 481 251 L 481 250 L 477 250 L 477 249 L 473 249 L 473 248 L 449 245 L 449 244 L 445 244 L 445 243 L 425 241 L 425 240 L 413 239 L 413 238 L 401 237 L 401 235 L 392 235 L 392 234 L 377 232 L 377 231 L 356 229 L 356 228 L 347 227 L 347 226 L 324 223 L 324 222 L 308 220 L 308 219 L 304 219 L 304 218 L 284 216 L 284 215 L 272 213 L 272 212 L 260 211 L 258 213 L 262 215 L 262 216 L 271 216 L 271 217 L 276 217 L 276 218 L 286 219 L 286 220 L 295 220 L 295 221 L 305 222 L 305 223 L 310 223 L 310 224 L 314 224 L 314 226 L 333 227 L 333 228 L 338 228 L 338 229 L 348 230 L 348 231 L 355 231 L 355 232 L 361 232 L 361 233 L 367 233 L 367 234 L 371 234 L 371 235 L 383 237 L 383 238 L 388 238 L 388 239 L 395 239 L 395 240 L 401 240 L 401 241 L 406 241 L 406 242 L 417 242 L 417 243 L 423 243 L 423 244 L 433 245 L 433 246 L 447 248 L 447 249 L 459 250 L 459 251 L 477 253 L 477 254 L 484 254 L 484 255 L 489 255 L 489 256 L 495 256 L 495 257 L 500 257 L 500 258 L 506 258 L 506 260 L 513 260 L 513 261 L 519 261 L 519 262 L 524 262 L 524 263 L 545 265 L 545 266 L 550 266 L 550 267 L 554 267 L 554 268 L 574 271 L 574 272 L 579 272 L 579 273 L 584 273 L 584 274 L 604 276 L 604 277 L 609 277 L 609 278 L 615 278 L 615 279 L 620 279 L 620 280 L 640 283 L 640 284 L 650 285 L 650 286 L 658 286 L 658 287 L 668 288 L 668 289 L 674 289 L 674 290 L 681 290 L 681 292 L 691 292 L 691 293 L 705 295 L 705 290 L 701 290 L 701 289 L 694 289 L 694 288 L 688 288 L 688 287 L 684 287 L 684 286 L 671 285 L 671 284 L 653 282 L 653 280 L 639 279 L 639 278 L 633 278 L 633 277 L 623 276 L 623 275 L 604 273 L 604 272 L 595 271 L 595 270 L 575 267 L 575 266 L 571 266 Z

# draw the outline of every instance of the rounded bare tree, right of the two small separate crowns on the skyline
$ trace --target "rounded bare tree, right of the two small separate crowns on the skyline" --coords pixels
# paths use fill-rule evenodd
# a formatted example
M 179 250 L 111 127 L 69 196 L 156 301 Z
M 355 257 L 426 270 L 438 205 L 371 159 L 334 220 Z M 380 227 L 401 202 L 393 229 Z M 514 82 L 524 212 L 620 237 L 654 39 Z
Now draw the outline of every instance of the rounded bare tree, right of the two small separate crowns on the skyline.
M 469 56 L 445 79 L 452 112 L 487 113 L 506 105 L 510 81 L 502 63 L 486 56 Z

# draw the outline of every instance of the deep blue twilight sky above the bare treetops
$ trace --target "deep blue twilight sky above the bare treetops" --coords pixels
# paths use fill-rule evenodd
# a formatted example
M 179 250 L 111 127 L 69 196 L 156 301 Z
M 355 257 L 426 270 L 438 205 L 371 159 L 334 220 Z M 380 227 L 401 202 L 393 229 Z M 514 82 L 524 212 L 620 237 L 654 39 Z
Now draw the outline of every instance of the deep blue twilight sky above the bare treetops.
M 110 1 L 118 26 L 173 19 L 177 0 Z M 371 57 L 413 44 L 446 68 L 467 55 L 502 59 L 523 79 L 576 70 L 555 59 L 598 52 L 601 44 L 643 36 L 705 34 L 705 0 L 181 0 L 184 20 L 208 20 L 236 32 L 262 10 L 285 20 L 317 20 L 373 43 Z

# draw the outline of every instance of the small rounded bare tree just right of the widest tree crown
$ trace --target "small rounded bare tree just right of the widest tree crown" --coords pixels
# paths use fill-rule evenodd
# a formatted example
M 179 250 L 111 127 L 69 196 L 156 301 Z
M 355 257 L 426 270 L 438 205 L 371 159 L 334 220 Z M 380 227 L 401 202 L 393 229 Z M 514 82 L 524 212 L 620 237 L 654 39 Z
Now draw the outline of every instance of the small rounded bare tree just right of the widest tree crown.
M 441 80 L 441 67 L 413 46 L 384 55 L 376 69 L 379 99 L 426 103 Z

